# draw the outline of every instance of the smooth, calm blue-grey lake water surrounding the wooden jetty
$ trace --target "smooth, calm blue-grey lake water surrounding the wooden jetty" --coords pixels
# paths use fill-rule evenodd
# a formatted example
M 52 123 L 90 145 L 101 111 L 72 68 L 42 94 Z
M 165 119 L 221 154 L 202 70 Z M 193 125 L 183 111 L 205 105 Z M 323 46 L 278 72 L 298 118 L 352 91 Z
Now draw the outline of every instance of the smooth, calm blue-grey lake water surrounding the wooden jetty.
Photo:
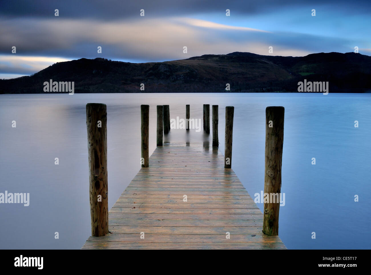
M 370 97 L 0 95 L 0 192 L 30 193 L 28 207 L 0 204 L 0 248 L 80 249 L 91 235 L 85 105 L 95 102 L 107 104 L 109 207 L 140 169 L 141 104 L 150 105 L 150 154 L 156 147 L 156 105 L 169 104 L 171 118 L 184 118 L 190 104 L 191 118 L 201 119 L 203 104 L 219 105 L 223 154 L 225 106 L 234 106 L 232 168 L 253 198 L 264 187 L 265 108 L 284 106 L 280 238 L 289 249 L 370 249 Z M 211 141 L 212 135 L 173 129 L 165 139 Z

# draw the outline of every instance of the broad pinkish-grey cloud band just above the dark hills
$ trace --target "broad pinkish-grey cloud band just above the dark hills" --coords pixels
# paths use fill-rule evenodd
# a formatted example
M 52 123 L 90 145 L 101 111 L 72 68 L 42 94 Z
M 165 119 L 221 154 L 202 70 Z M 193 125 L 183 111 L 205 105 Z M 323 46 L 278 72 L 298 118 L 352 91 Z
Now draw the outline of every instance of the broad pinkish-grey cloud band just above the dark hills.
M 266 32 L 191 18 L 116 20 L 0 19 L 0 52 L 64 58 L 184 59 L 234 51 L 266 54 L 268 46 L 296 52 L 344 51 L 348 41 L 292 32 Z M 3 39 L 4 38 L 4 39 Z M 247 45 L 265 45 L 262 48 Z M 102 46 L 102 55 L 97 47 Z M 187 46 L 188 54 L 183 54 Z M 255 49 L 255 50 L 254 50 Z M 345 50 L 349 51 L 349 50 Z M 279 54 L 279 52 L 277 52 Z

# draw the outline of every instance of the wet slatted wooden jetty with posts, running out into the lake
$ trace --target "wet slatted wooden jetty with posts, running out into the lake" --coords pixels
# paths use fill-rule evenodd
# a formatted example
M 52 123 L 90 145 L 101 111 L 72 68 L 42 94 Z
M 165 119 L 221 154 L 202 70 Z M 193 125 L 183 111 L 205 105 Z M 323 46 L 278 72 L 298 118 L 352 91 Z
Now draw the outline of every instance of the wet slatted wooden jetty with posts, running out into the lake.
M 162 115 L 162 108 L 158 111 Z M 142 118 L 143 114 L 142 140 L 146 140 L 146 107 L 142 107 Z M 87 118 L 88 115 L 87 111 Z M 226 112 L 226 118 L 227 115 L 231 116 L 230 111 Z M 95 116 L 95 119 L 99 118 Z M 167 124 L 167 120 L 164 123 Z M 230 130 L 226 130 L 226 135 Z M 157 131 L 159 134 L 162 132 Z M 230 143 L 232 147 L 232 133 L 230 135 L 226 146 Z M 142 147 L 142 156 L 146 157 L 147 149 Z M 232 148 L 226 150 L 232 156 Z M 97 154 L 92 153 L 92 157 L 94 155 Z M 91 160 L 92 166 L 94 163 L 98 162 Z M 278 236 L 278 212 L 277 232 L 263 233 L 266 218 L 234 171 L 225 168 L 225 158 L 217 146 L 209 142 L 163 143 L 144 163 L 149 163 L 148 167 L 142 164 L 109 210 L 108 225 L 104 213 L 93 215 L 97 212 L 94 207 L 102 202 L 91 200 L 93 236 L 82 249 L 286 249 Z M 96 180 L 100 176 L 96 166 L 94 169 L 93 180 Z M 95 184 L 95 187 L 99 189 L 101 185 Z M 91 199 L 95 187 L 91 186 Z M 95 233 L 105 231 L 96 228 L 97 222 L 109 232 Z

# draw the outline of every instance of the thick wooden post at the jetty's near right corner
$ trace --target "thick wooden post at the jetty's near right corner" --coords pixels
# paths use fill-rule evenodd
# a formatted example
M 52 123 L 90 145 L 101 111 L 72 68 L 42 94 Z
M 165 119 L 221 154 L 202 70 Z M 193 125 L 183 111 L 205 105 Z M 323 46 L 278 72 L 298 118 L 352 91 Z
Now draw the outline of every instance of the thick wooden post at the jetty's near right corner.
M 284 115 L 282 106 L 265 109 L 264 193 L 269 194 L 269 203 L 264 203 L 263 233 L 267 235 L 278 235 Z

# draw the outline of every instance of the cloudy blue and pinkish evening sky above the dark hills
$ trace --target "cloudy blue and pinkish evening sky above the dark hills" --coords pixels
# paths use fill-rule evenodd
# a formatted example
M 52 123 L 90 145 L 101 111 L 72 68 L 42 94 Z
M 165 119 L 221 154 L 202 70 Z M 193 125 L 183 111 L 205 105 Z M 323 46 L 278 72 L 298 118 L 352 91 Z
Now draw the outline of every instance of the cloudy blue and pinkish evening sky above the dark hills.
M 79 58 L 371 55 L 370 0 L 0 0 L 0 26 L 0 79 Z

